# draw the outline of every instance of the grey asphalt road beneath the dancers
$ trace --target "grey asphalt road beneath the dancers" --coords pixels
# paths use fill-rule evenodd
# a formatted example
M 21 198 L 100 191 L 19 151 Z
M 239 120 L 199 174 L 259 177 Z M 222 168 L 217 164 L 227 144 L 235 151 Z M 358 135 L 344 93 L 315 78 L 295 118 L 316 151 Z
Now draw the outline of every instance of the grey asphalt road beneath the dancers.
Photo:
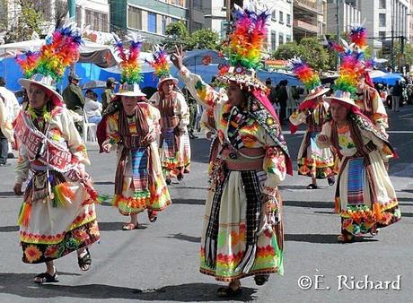
M 306 190 L 310 179 L 287 177 L 281 191 L 285 200 L 285 275 L 271 276 L 257 287 L 252 278 L 242 281 L 242 296 L 235 301 L 258 302 L 412 302 L 413 301 L 413 107 L 390 114 L 391 142 L 400 158 L 391 162 L 402 221 L 382 229 L 374 238 L 338 244 L 339 217 L 333 214 L 333 190 L 326 181 L 318 190 Z M 286 133 L 295 159 L 303 133 Z M 83 273 L 75 254 L 57 260 L 60 282 L 39 286 L 32 277 L 44 271 L 41 264 L 21 261 L 18 227 L 22 198 L 12 193 L 13 167 L 0 168 L 0 302 L 200 302 L 216 297 L 220 282 L 198 273 L 198 250 L 206 197 L 208 142 L 192 140 L 192 172 L 171 186 L 173 204 L 149 223 L 139 216 L 140 229 L 121 230 L 123 217 L 109 203 L 97 206 L 101 242 L 92 247 L 92 268 Z M 101 194 L 112 195 L 114 154 L 99 154 L 89 143 L 88 169 Z M 15 160 L 10 160 L 13 164 Z M 305 276 L 300 280 L 301 277 Z M 357 290 L 365 280 L 394 281 L 400 290 Z M 306 278 L 308 277 L 308 279 Z M 352 278 L 353 277 L 353 278 Z M 339 281 L 345 281 L 342 290 Z M 311 281 L 309 281 L 309 279 Z M 310 285 L 299 287 L 301 281 Z M 354 290 L 352 288 L 354 282 Z M 309 284 L 310 283 L 310 284 Z M 370 284 L 367 283 L 367 286 Z M 330 288 L 330 289 L 328 289 Z

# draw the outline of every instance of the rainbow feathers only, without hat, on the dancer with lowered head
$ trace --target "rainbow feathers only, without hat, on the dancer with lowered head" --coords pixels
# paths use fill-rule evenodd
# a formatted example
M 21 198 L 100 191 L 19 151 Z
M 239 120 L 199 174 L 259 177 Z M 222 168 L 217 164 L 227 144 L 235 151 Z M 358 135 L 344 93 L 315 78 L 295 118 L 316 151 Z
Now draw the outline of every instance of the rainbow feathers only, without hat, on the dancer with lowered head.
M 124 42 L 119 39 L 118 35 L 112 33 L 115 39 L 115 47 L 118 51 L 118 56 L 122 60 L 120 62 L 120 82 L 127 84 L 135 84 L 142 82 L 142 67 L 139 64 L 140 50 L 142 48 L 143 39 L 136 33 L 131 33 L 127 36 L 129 49 L 125 49 Z

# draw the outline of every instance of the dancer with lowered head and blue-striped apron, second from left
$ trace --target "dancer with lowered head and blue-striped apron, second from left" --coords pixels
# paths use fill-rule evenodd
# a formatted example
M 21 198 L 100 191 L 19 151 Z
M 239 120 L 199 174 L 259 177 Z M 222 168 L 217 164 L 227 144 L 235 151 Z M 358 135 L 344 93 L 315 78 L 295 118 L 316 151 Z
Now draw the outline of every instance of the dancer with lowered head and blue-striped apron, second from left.
M 131 230 L 138 227 L 137 214 L 145 209 L 149 221 L 156 221 L 157 212 L 171 203 L 171 197 L 156 144 L 159 111 L 145 102 L 146 95 L 138 85 L 142 81 L 138 62 L 142 41 L 138 36 L 129 37 L 127 55 L 124 42 L 118 36 L 114 37 L 122 60 L 122 86 L 116 94 L 118 99 L 111 102 L 112 111 L 105 115 L 100 125 L 106 128 L 106 140 L 101 145 L 104 152 L 117 147 L 118 168 L 112 203 L 121 214 L 130 216 L 122 229 Z

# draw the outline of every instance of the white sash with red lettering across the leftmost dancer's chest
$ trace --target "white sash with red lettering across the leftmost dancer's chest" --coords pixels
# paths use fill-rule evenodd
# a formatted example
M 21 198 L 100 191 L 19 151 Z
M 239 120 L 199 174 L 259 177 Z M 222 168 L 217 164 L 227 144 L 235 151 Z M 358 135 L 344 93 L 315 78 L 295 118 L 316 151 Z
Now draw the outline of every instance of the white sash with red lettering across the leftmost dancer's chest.
M 32 160 L 39 160 L 49 169 L 58 172 L 73 169 L 72 153 L 66 147 L 51 142 L 45 134 L 31 127 L 22 112 L 14 120 L 14 134 L 26 147 Z

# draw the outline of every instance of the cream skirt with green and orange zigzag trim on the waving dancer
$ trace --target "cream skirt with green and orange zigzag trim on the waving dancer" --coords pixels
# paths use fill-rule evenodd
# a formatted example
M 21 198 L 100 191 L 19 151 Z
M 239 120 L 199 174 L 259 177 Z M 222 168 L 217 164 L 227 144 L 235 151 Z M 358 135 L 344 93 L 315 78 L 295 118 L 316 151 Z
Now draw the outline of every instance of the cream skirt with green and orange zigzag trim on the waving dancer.
M 259 172 L 257 172 L 259 174 Z M 262 173 L 262 172 L 261 172 Z M 260 174 L 262 176 L 263 174 Z M 233 281 L 246 276 L 264 273 L 283 273 L 283 225 L 282 221 L 272 230 L 265 230 L 257 239 L 257 246 L 253 264 L 247 273 L 238 269 L 244 255 L 247 253 L 247 193 L 251 190 L 242 183 L 241 171 L 230 171 L 226 178 L 220 207 L 218 212 L 218 230 L 216 253 L 213 255 L 215 264 L 206 262 L 206 237 L 209 222 L 212 218 L 213 200 L 215 192 L 210 190 L 206 199 L 204 229 L 201 238 L 201 264 L 200 272 L 212 275 L 218 281 Z M 257 199 L 261 201 L 261 189 L 258 190 Z M 215 197 L 216 198 L 216 197 Z M 281 199 L 280 203 L 281 203 Z M 280 205 L 282 209 L 282 205 Z M 259 217 L 265 216 L 263 208 Z M 261 229 L 261 222 L 258 228 Z

